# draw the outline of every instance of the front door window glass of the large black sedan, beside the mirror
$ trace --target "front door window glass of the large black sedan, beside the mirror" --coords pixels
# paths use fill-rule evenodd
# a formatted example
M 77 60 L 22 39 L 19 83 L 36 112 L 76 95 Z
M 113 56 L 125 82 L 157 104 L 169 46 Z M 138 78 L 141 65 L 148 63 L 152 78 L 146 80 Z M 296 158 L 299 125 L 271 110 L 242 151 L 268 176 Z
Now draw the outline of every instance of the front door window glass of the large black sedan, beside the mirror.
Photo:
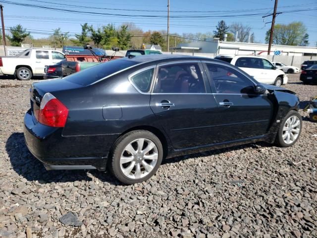
M 238 71 L 218 64 L 206 63 L 216 93 L 252 94 L 254 83 Z

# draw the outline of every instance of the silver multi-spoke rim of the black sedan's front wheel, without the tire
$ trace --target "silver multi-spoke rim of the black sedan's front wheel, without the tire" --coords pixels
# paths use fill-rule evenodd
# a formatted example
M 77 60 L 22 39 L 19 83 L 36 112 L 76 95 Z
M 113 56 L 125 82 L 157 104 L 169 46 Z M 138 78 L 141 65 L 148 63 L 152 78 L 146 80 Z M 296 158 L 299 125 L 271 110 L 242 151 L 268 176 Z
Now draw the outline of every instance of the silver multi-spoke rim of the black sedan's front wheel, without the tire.
M 283 141 L 286 144 L 293 143 L 301 131 L 301 121 L 297 116 L 292 116 L 285 121 L 283 126 Z

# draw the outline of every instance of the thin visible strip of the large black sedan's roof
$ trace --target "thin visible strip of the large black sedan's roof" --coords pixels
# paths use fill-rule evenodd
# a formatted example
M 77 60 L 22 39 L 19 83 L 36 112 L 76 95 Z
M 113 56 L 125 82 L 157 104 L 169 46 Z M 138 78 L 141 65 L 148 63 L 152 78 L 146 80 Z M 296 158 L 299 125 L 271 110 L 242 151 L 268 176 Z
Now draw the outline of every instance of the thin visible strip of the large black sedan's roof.
M 135 57 L 125 57 L 124 60 L 134 61 L 136 63 L 146 63 L 152 61 L 169 61 L 169 60 L 213 60 L 211 58 L 199 57 L 199 56 L 184 56 L 184 55 L 147 55 L 147 56 L 135 56 Z

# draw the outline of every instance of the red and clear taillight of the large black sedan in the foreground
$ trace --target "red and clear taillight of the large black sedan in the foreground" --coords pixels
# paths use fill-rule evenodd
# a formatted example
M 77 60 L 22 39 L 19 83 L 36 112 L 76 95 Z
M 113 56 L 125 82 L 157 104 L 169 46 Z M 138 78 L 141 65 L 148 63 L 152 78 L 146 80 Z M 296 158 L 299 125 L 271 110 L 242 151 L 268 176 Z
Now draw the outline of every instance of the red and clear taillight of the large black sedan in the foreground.
M 51 93 L 46 93 L 41 101 L 39 119 L 41 124 L 53 127 L 64 127 L 68 109 Z

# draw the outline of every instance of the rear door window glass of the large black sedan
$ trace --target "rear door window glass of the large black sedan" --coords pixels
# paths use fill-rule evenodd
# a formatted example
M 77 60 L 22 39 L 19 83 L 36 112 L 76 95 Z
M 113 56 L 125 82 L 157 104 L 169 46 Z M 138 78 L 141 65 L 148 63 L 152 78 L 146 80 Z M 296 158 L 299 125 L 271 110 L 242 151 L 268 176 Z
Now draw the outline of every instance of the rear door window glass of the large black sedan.
M 159 67 L 155 93 L 206 93 L 198 63 L 178 63 Z

